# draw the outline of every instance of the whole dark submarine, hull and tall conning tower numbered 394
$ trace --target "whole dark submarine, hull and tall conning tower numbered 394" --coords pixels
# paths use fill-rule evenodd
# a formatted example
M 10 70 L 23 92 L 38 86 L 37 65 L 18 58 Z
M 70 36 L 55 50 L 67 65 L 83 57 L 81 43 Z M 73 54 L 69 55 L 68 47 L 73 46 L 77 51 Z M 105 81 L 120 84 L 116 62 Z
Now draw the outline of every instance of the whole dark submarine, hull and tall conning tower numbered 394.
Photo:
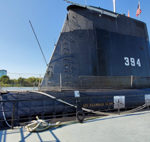
M 0 123 L 28 116 L 150 104 L 150 44 L 144 22 L 71 4 L 38 91 L 1 92 Z M 13 115 L 12 115 L 13 112 Z

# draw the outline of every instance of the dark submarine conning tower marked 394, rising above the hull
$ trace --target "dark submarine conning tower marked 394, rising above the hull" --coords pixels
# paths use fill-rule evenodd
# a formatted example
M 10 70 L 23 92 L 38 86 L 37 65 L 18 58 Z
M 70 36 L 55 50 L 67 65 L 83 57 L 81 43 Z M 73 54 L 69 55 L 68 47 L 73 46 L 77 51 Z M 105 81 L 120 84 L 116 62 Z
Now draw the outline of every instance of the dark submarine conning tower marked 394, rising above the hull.
M 150 87 L 145 23 L 98 7 L 67 9 L 42 90 Z

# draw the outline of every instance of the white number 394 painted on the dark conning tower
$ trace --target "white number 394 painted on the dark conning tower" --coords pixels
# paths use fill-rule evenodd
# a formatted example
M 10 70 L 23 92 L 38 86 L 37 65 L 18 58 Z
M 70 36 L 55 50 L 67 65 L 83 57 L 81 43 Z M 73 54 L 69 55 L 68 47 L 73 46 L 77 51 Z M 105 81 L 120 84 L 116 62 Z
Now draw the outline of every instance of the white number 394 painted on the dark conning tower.
M 124 57 L 124 60 L 125 60 L 125 66 L 132 66 L 132 67 L 135 67 L 135 66 L 138 66 L 138 67 L 141 67 L 141 61 L 140 59 L 138 58 L 137 60 L 135 58 L 129 58 L 129 57 Z

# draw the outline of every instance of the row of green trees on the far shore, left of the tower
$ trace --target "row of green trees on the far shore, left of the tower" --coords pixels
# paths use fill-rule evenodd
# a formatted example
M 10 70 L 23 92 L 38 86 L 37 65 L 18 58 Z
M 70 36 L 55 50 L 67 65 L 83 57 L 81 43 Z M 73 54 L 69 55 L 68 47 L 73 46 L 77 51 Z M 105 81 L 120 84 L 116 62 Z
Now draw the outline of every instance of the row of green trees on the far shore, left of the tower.
M 42 78 L 29 77 L 10 79 L 9 76 L 2 76 L 0 78 L 1 87 L 37 87 L 41 83 Z

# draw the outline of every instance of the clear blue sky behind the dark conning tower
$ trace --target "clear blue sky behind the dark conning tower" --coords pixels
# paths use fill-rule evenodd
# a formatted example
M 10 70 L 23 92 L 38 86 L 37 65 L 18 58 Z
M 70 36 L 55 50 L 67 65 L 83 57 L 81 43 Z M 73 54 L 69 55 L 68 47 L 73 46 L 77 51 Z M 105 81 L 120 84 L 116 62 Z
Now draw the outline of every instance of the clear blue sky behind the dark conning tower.
M 72 0 L 75 3 L 113 11 L 112 0 Z M 140 0 L 142 13 L 136 17 L 138 0 L 116 0 L 116 12 L 144 21 L 150 34 L 149 0 Z M 57 42 L 69 4 L 64 0 L 0 0 L 0 69 L 10 78 L 43 76 L 46 64 L 35 40 L 36 31 L 47 62 Z

